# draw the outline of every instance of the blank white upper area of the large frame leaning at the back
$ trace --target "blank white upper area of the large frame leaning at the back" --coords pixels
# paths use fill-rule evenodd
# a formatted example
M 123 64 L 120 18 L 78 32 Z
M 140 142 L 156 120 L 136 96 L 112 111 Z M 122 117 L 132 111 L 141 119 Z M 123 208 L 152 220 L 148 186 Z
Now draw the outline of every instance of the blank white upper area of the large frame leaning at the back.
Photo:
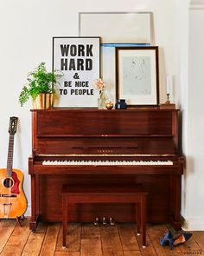
M 101 43 L 152 43 L 152 13 L 80 12 L 79 35 L 101 36 Z

